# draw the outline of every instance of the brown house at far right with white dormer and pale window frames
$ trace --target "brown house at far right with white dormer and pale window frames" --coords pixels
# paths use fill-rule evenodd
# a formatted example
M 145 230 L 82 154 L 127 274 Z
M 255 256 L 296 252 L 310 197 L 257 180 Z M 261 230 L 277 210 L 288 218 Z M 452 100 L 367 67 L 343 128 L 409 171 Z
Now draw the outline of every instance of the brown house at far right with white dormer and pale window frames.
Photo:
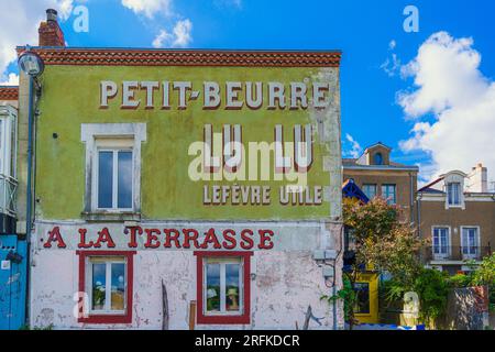
M 495 193 L 482 164 L 470 174 L 452 170 L 418 190 L 419 233 L 430 240 L 424 261 L 455 274 L 469 271 L 495 244 Z

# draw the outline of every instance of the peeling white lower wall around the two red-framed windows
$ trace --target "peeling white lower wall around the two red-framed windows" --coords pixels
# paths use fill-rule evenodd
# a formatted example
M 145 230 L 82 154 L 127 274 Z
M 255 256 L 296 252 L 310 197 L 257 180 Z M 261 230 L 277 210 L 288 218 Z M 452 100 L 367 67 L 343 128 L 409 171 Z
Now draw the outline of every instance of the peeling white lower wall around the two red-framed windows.
M 32 327 L 53 326 L 55 329 L 161 329 L 162 328 L 162 280 L 166 285 L 169 309 L 169 329 L 189 329 L 189 304 L 197 300 L 197 267 L 194 251 L 153 251 L 138 249 L 134 256 L 133 306 L 131 324 L 82 324 L 77 322 L 79 256 L 75 244 L 78 224 L 64 224 L 62 232 L 66 249 L 43 249 L 52 223 L 38 223 L 32 241 L 30 322 Z M 169 226 L 169 223 L 167 223 Z M 194 224 L 189 223 L 189 227 Z M 198 224 L 204 226 L 204 224 Z M 222 224 L 224 227 L 224 224 Z M 241 224 L 234 224 L 237 227 Z M 245 224 L 242 224 L 245 227 Z M 275 226 L 275 223 L 273 223 Z M 85 226 L 86 228 L 102 224 Z M 233 226 L 230 224 L 232 228 Z M 343 327 L 342 304 L 337 304 L 337 321 L 332 305 L 322 301 L 323 295 L 331 295 L 326 285 L 322 266 L 312 258 L 312 250 L 298 250 L 298 241 L 290 238 L 293 231 L 307 235 L 306 245 L 314 243 L 321 248 L 339 251 L 340 224 L 320 223 L 277 224 L 278 241 L 272 251 L 255 251 L 251 258 L 251 319 L 246 326 L 196 326 L 196 329 L 299 329 L 310 305 L 314 316 L 321 319 L 321 326 L 310 320 L 310 329 L 338 329 Z M 282 230 L 285 228 L 285 230 Z M 70 235 L 67 235 L 70 233 Z M 286 243 L 284 239 L 290 241 Z M 302 238 L 301 238 L 302 239 Z M 321 241 L 322 240 L 322 241 Z M 283 248 L 284 250 L 277 250 Z M 123 250 L 123 249 L 119 249 Z M 129 250 L 129 249 L 127 249 Z M 341 262 L 337 263 L 337 290 L 341 287 Z M 329 286 L 331 283 L 327 283 Z

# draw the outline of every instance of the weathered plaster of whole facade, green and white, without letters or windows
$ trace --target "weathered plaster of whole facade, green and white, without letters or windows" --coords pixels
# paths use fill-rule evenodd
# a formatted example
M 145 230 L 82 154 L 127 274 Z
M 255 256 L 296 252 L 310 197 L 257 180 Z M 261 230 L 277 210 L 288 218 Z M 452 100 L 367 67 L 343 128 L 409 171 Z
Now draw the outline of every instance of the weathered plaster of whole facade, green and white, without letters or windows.
M 74 77 L 78 77 L 77 85 Z M 332 101 L 323 110 L 202 110 L 191 105 L 187 110 L 121 110 L 116 101 L 99 109 L 100 80 L 190 80 L 201 86 L 204 79 L 217 81 L 329 81 Z M 146 124 L 146 143 L 141 155 L 141 220 L 143 228 L 196 228 L 205 231 L 231 228 L 240 230 L 271 229 L 274 249 L 254 251 L 251 270 L 251 323 L 249 326 L 197 326 L 197 329 L 299 329 L 311 305 L 321 326 L 311 320 L 310 329 L 332 329 L 332 305 L 322 301 L 331 294 L 323 265 L 336 266 L 336 288 L 341 275 L 341 145 L 340 87 L 337 68 L 278 67 L 101 67 L 47 66 L 43 76 L 42 114 L 36 131 L 36 222 L 32 237 L 31 324 L 54 324 L 56 329 L 162 327 L 162 289 L 168 293 L 169 327 L 188 328 L 189 302 L 196 297 L 196 257 L 193 250 L 145 250 L 140 238 L 134 257 L 132 323 L 86 324 L 77 322 L 73 311 L 78 290 L 79 228 L 89 235 L 108 227 L 116 249 L 128 249 L 121 218 L 85 221 L 87 151 L 81 142 L 84 124 Z M 70 91 L 70 95 L 67 92 Z M 22 89 L 21 89 L 22 94 Z M 264 91 L 266 95 L 266 91 Z M 155 100 L 160 96 L 156 92 Z M 172 99 L 176 99 L 172 96 Z M 266 97 L 265 97 L 266 99 Z M 176 105 L 176 102 L 175 102 Z M 22 119 L 21 119 L 22 120 Z M 23 121 L 23 120 L 22 120 Z M 273 141 L 276 124 L 293 127 L 311 123 L 317 127 L 315 163 L 309 173 L 310 186 L 324 187 L 323 205 L 284 207 L 273 198 L 272 206 L 206 207 L 202 184 L 188 179 L 191 142 L 202 136 L 202 127 L 211 123 L 217 131 L 222 124 L 241 123 L 244 141 Z M 58 138 L 53 138 L 54 133 Z M 290 138 L 287 129 L 287 139 Z M 323 166 L 324 165 L 324 166 Z M 25 175 L 24 175 L 25 176 Z M 24 177 L 23 176 L 23 177 Z M 277 182 L 263 182 L 277 189 Z M 168 221 L 167 221 L 168 220 Z M 46 235 L 59 227 L 66 249 L 43 248 Z M 315 250 L 339 253 L 337 263 L 317 263 Z M 321 266 L 320 266 L 321 265 Z M 337 304 L 337 326 L 342 328 L 342 305 Z

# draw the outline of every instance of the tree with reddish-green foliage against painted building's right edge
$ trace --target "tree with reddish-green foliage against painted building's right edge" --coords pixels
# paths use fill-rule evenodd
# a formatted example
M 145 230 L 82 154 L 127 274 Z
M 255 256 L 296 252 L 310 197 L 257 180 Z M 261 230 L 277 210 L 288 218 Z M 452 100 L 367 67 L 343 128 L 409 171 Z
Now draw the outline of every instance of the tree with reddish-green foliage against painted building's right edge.
M 350 250 L 355 252 L 355 262 L 352 270 L 343 274 L 343 289 L 336 296 L 323 298 L 344 301 L 345 318 L 351 329 L 355 322 L 354 288 L 363 267 L 391 273 L 402 293 L 414 287 L 421 270 L 417 254 L 424 242 L 410 224 L 400 221 L 400 209 L 382 198 L 367 204 L 349 198 L 343 200 L 343 220 L 344 226 L 351 229 Z

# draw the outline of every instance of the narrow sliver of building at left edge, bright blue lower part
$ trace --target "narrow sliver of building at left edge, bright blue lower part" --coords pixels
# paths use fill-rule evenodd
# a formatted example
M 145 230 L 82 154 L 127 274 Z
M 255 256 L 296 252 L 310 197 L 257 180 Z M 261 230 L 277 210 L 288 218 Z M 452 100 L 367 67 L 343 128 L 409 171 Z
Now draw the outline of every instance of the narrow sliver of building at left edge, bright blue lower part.
M 16 234 L 18 87 L 0 86 L 0 330 L 25 319 L 26 242 Z

